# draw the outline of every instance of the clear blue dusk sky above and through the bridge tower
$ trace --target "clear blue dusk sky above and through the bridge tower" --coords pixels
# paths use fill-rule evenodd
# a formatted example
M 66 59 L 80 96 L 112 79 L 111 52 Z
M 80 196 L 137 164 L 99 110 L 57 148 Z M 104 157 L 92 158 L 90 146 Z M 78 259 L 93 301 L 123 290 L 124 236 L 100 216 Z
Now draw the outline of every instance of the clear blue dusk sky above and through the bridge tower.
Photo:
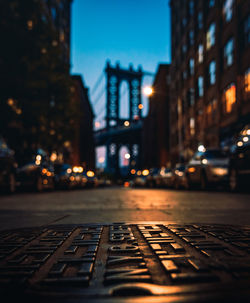
M 122 68 L 132 63 L 144 71 L 155 72 L 159 63 L 169 63 L 170 11 L 169 0 L 74 0 L 71 15 L 71 73 L 81 74 L 89 87 L 96 121 L 105 116 L 106 60 L 119 62 Z M 104 75 L 104 74 L 103 74 Z M 144 77 L 144 85 L 152 76 Z M 128 98 L 126 85 L 124 98 Z M 124 102 L 126 103 L 126 102 Z M 143 114 L 148 110 L 143 99 Z M 126 106 L 123 114 L 126 116 Z

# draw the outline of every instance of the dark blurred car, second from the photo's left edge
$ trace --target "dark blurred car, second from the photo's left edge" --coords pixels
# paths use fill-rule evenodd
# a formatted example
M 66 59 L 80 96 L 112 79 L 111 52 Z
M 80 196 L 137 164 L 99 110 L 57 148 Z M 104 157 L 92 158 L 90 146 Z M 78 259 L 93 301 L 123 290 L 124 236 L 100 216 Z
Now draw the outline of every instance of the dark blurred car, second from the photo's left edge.
M 54 168 L 48 161 L 46 152 L 38 149 L 35 154 L 31 155 L 29 162 L 18 167 L 17 185 L 38 192 L 44 189 L 54 189 Z

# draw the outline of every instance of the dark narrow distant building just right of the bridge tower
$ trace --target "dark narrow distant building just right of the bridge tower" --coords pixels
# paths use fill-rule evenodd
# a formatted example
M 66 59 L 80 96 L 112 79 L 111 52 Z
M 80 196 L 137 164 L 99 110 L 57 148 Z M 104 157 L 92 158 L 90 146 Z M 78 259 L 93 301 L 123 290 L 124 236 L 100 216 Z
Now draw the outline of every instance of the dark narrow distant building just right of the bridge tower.
M 143 125 L 143 166 L 167 166 L 169 155 L 169 87 L 170 65 L 160 64 L 149 98 L 149 112 Z

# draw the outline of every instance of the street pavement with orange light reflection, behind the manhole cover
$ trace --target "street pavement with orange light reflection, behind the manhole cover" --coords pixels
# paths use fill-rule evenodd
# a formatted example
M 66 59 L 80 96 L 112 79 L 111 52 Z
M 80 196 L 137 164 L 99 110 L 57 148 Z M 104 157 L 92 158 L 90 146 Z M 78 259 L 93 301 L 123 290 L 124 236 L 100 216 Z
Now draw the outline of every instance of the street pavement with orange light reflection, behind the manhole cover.
M 250 194 L 97 188 L 0 196 L 0 229 L 67 223 L 250 224 Z

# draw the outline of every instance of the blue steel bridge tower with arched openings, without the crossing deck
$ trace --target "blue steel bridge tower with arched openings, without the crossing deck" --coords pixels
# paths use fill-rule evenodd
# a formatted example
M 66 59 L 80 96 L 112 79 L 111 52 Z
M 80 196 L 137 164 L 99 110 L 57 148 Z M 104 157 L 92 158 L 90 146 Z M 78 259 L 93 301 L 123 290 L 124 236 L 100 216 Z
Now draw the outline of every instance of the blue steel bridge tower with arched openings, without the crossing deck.
M 120 86 L 123 81 L 127 82 L 129 90 L 129 117 L 126 119 L 130 125 L 135 125 L 141 122 L 142 111 L 141 104 L 141 85 L 143 72 L 139 67 L 135 70 L 132 65 L 129 69 L 120 68 L 117 63 L 115 67 L 110 65 L 107 61 L 106 68 L 106 129 L 107 132 L 112 133 L 115 129 L 123 127 L 124 119 L 119 117 L 120 107 Z M 110 135 L 106 142 L 107 148 L 107 170 L 111 173 L 119 175 L 119 150 L 122 145 L 126 145 L 130 154 L 130 167 L 140 167 L 140 149 L 141 149 L 141 136 L 131 131 L 126 136 L 117 137 Z

